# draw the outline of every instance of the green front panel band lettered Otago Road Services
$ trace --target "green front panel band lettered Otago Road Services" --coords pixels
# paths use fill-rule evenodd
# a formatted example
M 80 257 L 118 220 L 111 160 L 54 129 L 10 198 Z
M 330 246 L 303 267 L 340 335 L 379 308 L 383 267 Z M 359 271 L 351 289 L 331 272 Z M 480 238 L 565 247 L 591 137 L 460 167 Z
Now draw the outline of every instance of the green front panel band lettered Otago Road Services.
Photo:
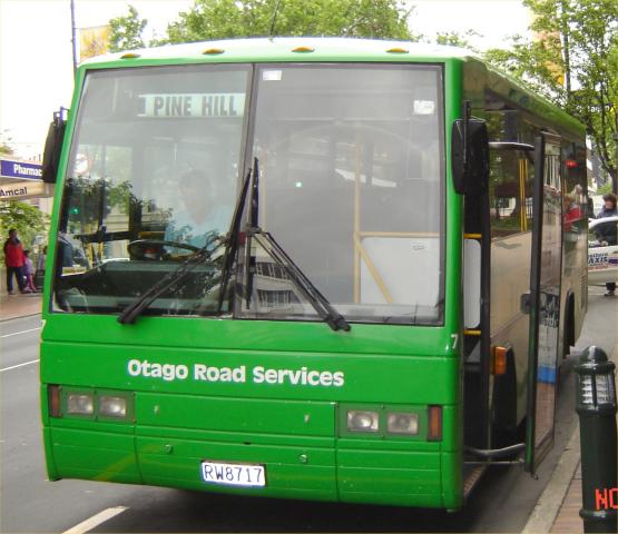
M 450 357 L 189 349 L 148 346 L 148 337 L 137 338 L 138 347 L 43 343 L 41 379 L 82 387 L 226 397 L 398 404 L 460 400 L 459 362 Z M 160 370 L 157 376 L 155 366 Z M 204 370 L 213 368 L 213 375 Z M 271 383 L 266 369 L 272 372 Z M 341 382 L 334 382 L 336 376 Z

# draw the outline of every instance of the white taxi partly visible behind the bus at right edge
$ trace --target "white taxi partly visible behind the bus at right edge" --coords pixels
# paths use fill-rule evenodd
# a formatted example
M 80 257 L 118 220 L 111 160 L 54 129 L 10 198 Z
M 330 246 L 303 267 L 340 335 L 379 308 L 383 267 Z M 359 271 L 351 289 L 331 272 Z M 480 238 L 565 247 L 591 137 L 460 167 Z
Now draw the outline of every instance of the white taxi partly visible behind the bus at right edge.
M 588 224 L 588 284 L 618 281 L 618 216 L 592 219 Z M 614 239 L 607 239 L 614 236 Z

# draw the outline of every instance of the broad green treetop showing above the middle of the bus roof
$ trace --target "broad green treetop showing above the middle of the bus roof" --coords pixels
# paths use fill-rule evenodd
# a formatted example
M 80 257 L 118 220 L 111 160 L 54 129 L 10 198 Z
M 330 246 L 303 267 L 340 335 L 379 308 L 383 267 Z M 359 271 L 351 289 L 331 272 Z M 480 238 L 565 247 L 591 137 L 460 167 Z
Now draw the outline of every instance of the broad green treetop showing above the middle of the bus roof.
M 418 40 L 408 28 L 410 12 L 399 0 L 196 0 L 160 42 L 271 33 Z

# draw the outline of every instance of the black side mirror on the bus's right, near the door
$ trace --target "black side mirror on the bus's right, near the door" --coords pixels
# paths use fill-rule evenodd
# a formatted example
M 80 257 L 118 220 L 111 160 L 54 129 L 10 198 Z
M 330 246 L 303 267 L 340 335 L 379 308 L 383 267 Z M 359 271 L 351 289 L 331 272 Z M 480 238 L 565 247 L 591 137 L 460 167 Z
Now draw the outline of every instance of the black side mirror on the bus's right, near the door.
M 467 118 L 453 122 L 453 186 L 460 195 L 480 196 L 489 187 L 489 134 L 484 120 Z

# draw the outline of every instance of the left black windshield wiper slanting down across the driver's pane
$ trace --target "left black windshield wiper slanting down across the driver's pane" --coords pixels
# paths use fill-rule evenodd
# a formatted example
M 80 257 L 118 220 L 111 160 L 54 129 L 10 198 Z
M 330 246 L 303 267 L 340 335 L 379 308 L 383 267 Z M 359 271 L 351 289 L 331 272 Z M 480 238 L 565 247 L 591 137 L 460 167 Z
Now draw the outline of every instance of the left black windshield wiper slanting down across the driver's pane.
M 138 315 L 141 314 L 150 304 L 160 297 L 165 291 L 169 290 L 176 284 L 183 281 L 188 274 L 192 273 L 198 265 L 208 261 L 213 254 L 220 247 L 219 241 L 215 248 L 210 248 L 215 240 L 219 239 L 218 236 L 213 236 L 208 239 L 206 245 L 196 253 L 192 254 L 180 266 L 157 281 L 144 295 L 137 298 L 133 304 L 129 304 L 122 313 L 118 316 L 118 323 L 122 325 L 131 325 Z

